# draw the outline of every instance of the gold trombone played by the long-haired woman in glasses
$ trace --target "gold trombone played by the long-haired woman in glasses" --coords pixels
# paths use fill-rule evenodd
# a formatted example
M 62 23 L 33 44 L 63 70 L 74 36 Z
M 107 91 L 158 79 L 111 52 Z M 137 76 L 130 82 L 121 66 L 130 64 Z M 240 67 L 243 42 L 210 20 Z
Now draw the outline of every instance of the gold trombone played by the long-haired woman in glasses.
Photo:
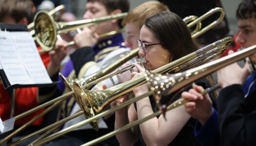
M 199 50 L 197 50 L 196 52 L 194 53 L 191 53 L 189 55 L 186 55 L 176 61 L 173 61 L 165 66 L 162 66 L 156 70 L 153 71 L 153 73 L 166 73 L 168 72 L 169 70 L 177 67 L 177 66 L 181 66 L 182 64 L 186 64 L 189 62 L 189 60 L 193 60 L 193 58 L 197 57 L 197 56 L 200 56 L 200 55 L 203 55 L 203 54 L 206 54 L 208 56 L 211 56 L 210 54 L 207 54 L 207 52 L 211 51 L 213 48 L 216 48 L 218 47 L 219 48 L 219 51 L 223 51 L 223 49 L 226 48 L 226 46 L 231 43 L 233 41 L 233 38 L 232 37 L 226 37 L 226 38 L 223 38 L 221 40 L 218 40 L 204 48 L 201 48 Z M 222 46 L 222 47 L 220 47 Z M 213 53 L 213 51 L 212 51 Z M 213 55 L 215 56 L 215 55 Z M 205 56 L 206 57 L 206 56 Z M 108 88 L 106 90 L 103 90 L 103 91 L 99 91 L 99 92 L 96 92 L 96 91 L 87 91 L 83 88 L 81 88 L 81 86 L 78 84 L 78 83 L 74 83 L 74 90 L 75 90 L 75 97 L 77 98 L 77 101 L 79 103 L 79 106 L 81 107 L 82 111 L 79 111 L 77 113 L 75 113 L 74 115 L 71 115 L 65 119 L 62 119 L 50 126 L 47 126 L 45 128 L 42 128 L 40 129 L 39 131 L 36 131 L 28 136 L 25 136 L 24 138 L 12 143 L 11 145 L 17 145 L 37 134 L 40 134 L 44 131 L 47 131 L 53 127 L 56 127 L 56 126 L 59 126 L 81 114 L 84 114 L 88 119 L 91 119 L 91 117 L 98 117 L 98 115 L 102 115 L 101 113 L 105 113 L 105 111 L 103 112 L 100 112 L 103 107 L 105 105 L 107 105 L 108 103 L 110 103 L 111 101 L 115 100 L 116 98 L 118 98 L 120 95 L 123 95 L 123 94 L 126 94 L 128 93 L 129 91 L 132 91 L 132 89 L 138 87 L 139 85 L 143 84 L 146 82 L 146 78 L 144 76 L 140 76 L 136 79 L 133 79 L 133 80 L 130 80 L 130 81 L 127 81 L 125 83 L 122 83 L 122 84 L 119 84 L 117 86 L 114 86 L 114 87 L 111 87 L 111 88 Z M 72 91 L 74 92 L 74 91 Z M 81 94 L 80 94 L 81 93 Z M 92 98 L 96 98 L 95 99 L 95 103 L 94 103 L 94 99 L 92 99 L 91 97 L 88 98 L 89 100 L 87 100 L 86 98 L 84 98 L 84 95 L 94 95 L 94 96 L 98 96 L 100 98 L 96 98 L 96 97 L 92 97 Z M 104 98 L 104 96 L 106 96 L 106 98 Z M 70 96 L 70 95 L 69 95 Z M 82 97 L 81 97 L 82 96 Z M 59 97 L 58 97 L 59 98 Z M 100 100 L 102 102 L 100 102 Z M 80 102 L 81 101 L 81 102 Z M 83 105 L 85 104 L 85 105 Z M 92 104 L 92 105 L 91 105 Z M 96 108 L 97 107 L 97 108 Z M 96 114 L 97 113 L 97 114 Z M 98 128 L 98 120 L 92 120 L 90 121 L 90 124 L 93 126 L 93 128 L 95 128 L 97 130 Z M 47 137 L 46 139 L 47 140 L 44 140 L 43 143 L 46 143 L 56 137 L 59 137 L 60 135 L 63 135 L 69 131 L 72 131 L 76 128 L 79 128 L 81 126 L 83 126 L 84 124 L 79 124 L 79 125 L 74 125 L 74 126 L 71 126 L 69 128 L 66 128 L 66 129 L 63 129 L 61 130 L 61 132 L 57 132 L 56 134 L 50 136 L 50 137 Z

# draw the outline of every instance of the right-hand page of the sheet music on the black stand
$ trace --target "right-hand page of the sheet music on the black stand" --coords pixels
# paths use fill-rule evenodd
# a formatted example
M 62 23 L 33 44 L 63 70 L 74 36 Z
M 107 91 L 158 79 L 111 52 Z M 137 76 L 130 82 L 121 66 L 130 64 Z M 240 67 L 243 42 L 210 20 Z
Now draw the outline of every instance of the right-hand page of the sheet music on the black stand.
M 52 83 L 29 32 L 10 32 L 27 73 L 35 84 Z

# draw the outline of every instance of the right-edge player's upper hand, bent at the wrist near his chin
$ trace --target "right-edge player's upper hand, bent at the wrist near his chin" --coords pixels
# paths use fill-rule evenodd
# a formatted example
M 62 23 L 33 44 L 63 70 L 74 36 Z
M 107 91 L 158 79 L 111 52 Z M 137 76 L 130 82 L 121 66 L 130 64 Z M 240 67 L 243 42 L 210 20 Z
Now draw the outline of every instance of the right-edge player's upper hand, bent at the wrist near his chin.
M 233 51 L 229 51 L 229 55 L 233 53 Z M 246 62 L 243 68 L 241 68 L 237 63 L 233 63 L 220 69 L 217 72 L 219 86 L 225 88 L 232 84 L 242 85 L 249 75 L 248 68 L 249 64 Z

